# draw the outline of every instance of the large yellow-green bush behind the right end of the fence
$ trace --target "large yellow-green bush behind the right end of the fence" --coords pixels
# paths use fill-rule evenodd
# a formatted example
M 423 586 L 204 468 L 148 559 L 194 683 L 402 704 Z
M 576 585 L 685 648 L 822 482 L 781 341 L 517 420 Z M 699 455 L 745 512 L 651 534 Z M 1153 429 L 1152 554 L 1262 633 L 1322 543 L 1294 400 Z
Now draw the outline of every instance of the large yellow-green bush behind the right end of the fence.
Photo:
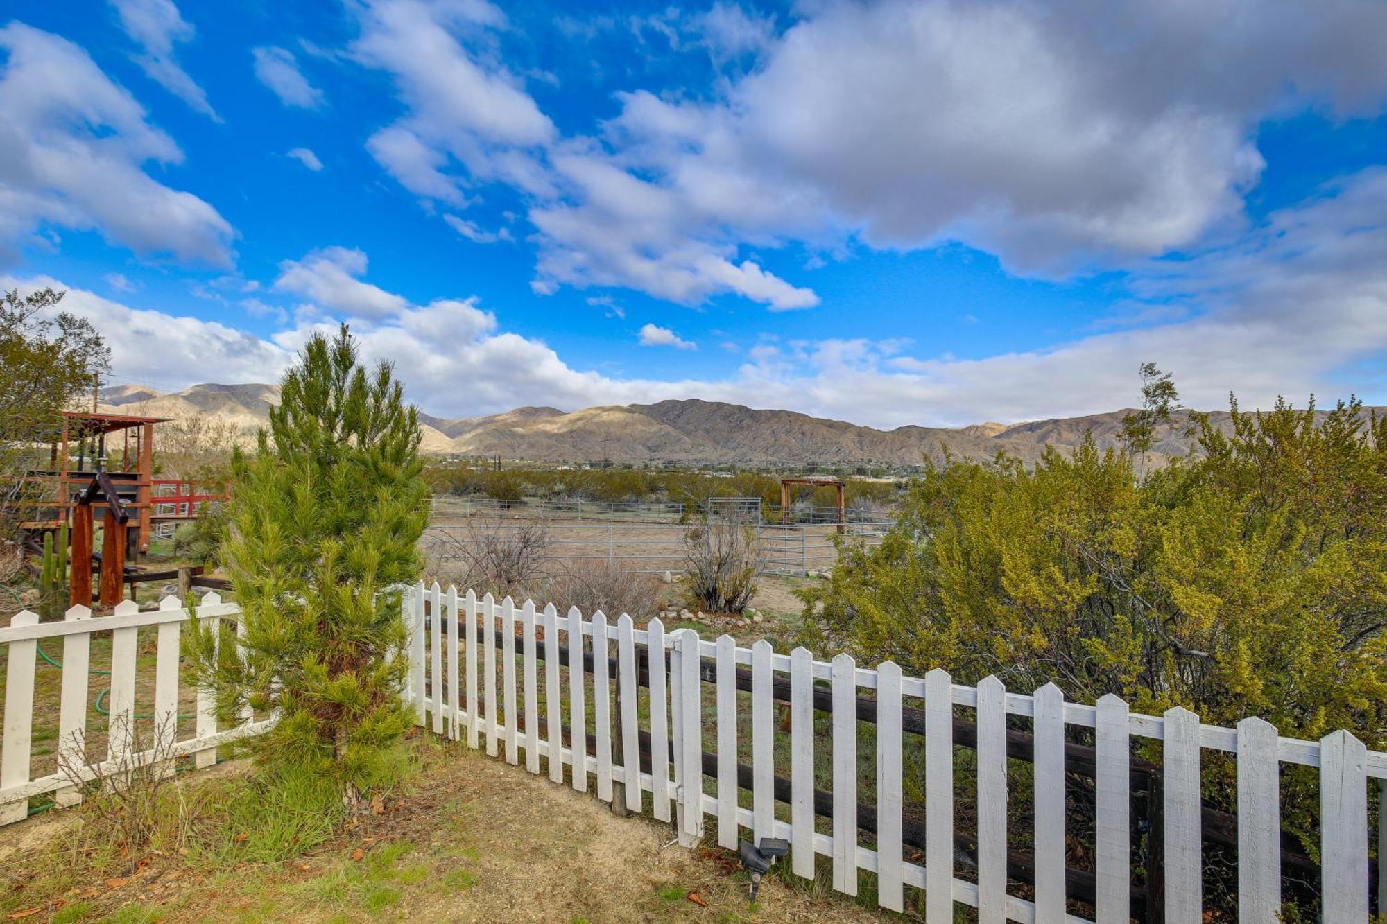
M 1035 466 L 928 466 L 879 548 L 806 594 L 868 660 L 1058 683 L 1283 734 L 1387 727 L 1387 422 L 1233 405 L 1147 477 L 1092 440 Z M 809 620 L 807 620 L 809 622 Z M 813 624 L 813 623 L 811 623 Z

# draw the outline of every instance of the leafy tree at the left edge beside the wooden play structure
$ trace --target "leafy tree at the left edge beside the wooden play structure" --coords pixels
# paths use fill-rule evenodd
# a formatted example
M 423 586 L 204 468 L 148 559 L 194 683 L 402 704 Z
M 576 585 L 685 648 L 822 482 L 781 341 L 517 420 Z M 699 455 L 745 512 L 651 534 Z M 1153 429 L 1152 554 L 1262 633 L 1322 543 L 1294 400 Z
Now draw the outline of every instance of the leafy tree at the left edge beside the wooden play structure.
M 60 413 L 111 365 L 92 322 L 55 312 L 67 293 L 0 294 L 0 520 L 36 443 L 51 440 Z

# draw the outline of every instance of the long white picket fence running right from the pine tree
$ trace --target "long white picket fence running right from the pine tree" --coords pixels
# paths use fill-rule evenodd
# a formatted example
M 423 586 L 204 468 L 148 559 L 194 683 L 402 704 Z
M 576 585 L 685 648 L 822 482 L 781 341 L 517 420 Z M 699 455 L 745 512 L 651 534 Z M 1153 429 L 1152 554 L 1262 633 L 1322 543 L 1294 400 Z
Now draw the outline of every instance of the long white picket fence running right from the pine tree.
M 406 595 L 404 617 L 411 631 L 406 696 L 419 724 L 466 741 L 472 748 L 484 745 L 492 756 L 503 748 L 512 764 L 520 763 L 523 752 L 530 773 L 541 771 L 544 758 L 555 782 L 563 782 L 567 766 L 574 789 L 585 791 L 592 778 L 598 798 L 608 802 L 614 798 L 614 784 L 624 784 L 626 806 L 635 812 L 642 810 L 644 795 L 649 794 L 649 810 L 659 820 L 671 820 L 673 803 L 673 820 L 685 845 L 698 842 L 705 816 L 712 816 L 717 819 L 717 839 L 723 846 L 735 848 L 742 828 L 756 842 L 766 837 L 786 838 L 792 845 L 792 870 L 799 875 L 814 875 L 816 855 L 831 857 L 832 885 L 839 892 L 856 895 L 859 871 L 875 873 L 884 907 L 902 910 L 903 887 L 924 888 L 927 918 L 932 924 L 951 923 L 956 903 L 978 909 L 982 924 L 1086 921 L 1067 912 L 1065 891 L 1065 832 L 1075 823 L 1065 817 L 1062 795 L 1065 730 L 1074 726 L 1092 730 L 1096 742 L 1096 921 L 1125 924 L 1132 918 L 1133 738 L 1164 742 L 1165 921 L 1204 920 L 1200 792 L 1204 752 L 1236 755 L 1239 920 L 1257 924 L 1280 920 L 1282 764 L 1319 769 L 1322 920 L 1334 924 L 1368 920 L 1372 885 L 1368 787 L 1369 778 L 1387 780 L 1387 753 L 1366 751 L 1347 731 L 1336 731 L 1319 742 L 1298 741 L 1279 737 L 1261 719 L 1222 728 L 1201 724 L 1198 716 L 1184 709 L 1171 709 L 1164 716 L 1133 713 L 1111 695 L 1096 706 L 1071 703 L 1053 684 L 1033 695 L 1008 692 L 996 677 L 978 687 L 963 687 L 943 670 L 924 678 L 902 676 L 890 662 L 864 670 L 847 655 L 821 662 L 804 648 L 777 653 L 766 641 L 739 648 L 728 635 L 706 641 L 688 628 L 666 633 L 657 619 L 642 630 L 624 615 L 609 622 L 598 612 L 585 620 L 576 609 L 560 616 L 552 605 L 537 609 L 527 601 L 516 606 L 509 598 L 498 604 L 490 594 L 477 599 L 472 591 L 444 592 L 437 584 L 413 588 Z M 613 647 L 614 671 L 609 669 Z M 588 683 L 584 670 L 570 669 L 565 690 L 560 662 L 581 665 L 584 649 L 591 653 L 592 681 Z M 649 670 L 644 726 L 638 694 L 642 665 Z M 749 667 L 752 674 L 750 809 L 738 803 L 738 667 Z M 792 755 L 788 823 L 775 817 L 775 773 L 785 767 L 774 766 L 773 751 L 777 703 L 773 687 L 785 677 L 791 690 Z M 709 773 L 712 792 L 703 785 L 705 680 L 714 684 L 716 721 L 707 735 L 716 752 L 716 773 Z M 820 684 L 829 685 L 832 703 L 832 834 L 818 832 L 814 825 L 813 694 Z M 859 837 L 860 690 L 872 691 L 875 701 L 875 849 L 864 846 Z M 545 710 L 544 723 L 541 694 L 553 706 Z M 907 860 L 902 839 L 902 712 L 903 703 L 911 701 L 925 712 L 922 864 Z M 968 832 L 976 839 L 976 881 L 954 877 L 953 730 L 958 706 L 971 710 L 976 721 L 978 824 L 975 832 Z M 589 753 L 589 709 L 595 753 Z M 523 723 L 517 721 L 522 715 Z M 1007 716 L 1025 716 L 1032 724 L 1033 900 L 1008 893 Z M 570 744 L 565 744 L 565 717 Z M 641 767 L 644 735 L 649 741 L 648 771 Z M 1383 837 L 1379 827 L 1379 845 Z M 1387 871 L 1383 867 L 1387 864 L 1379 867 L 1379 875 Z M 1384 885 L 1379 881 L 1379 895 Z

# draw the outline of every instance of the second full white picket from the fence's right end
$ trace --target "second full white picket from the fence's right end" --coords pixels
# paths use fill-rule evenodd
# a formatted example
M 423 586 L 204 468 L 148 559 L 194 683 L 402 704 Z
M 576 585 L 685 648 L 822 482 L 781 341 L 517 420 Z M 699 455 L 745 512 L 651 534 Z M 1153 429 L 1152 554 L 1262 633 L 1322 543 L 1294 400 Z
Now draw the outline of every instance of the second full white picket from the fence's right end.
M 1237 920 L 1279 921 L 1282 913 L 1282 807 L 1276 726 L 1237 723 Z

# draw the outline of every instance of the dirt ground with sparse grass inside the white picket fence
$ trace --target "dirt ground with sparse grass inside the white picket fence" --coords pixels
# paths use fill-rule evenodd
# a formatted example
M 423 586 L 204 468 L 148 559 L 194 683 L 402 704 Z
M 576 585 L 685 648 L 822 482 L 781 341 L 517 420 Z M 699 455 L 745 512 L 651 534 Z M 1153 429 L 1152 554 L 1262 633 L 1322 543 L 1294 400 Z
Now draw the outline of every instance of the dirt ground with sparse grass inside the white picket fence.
M 40 870 L 80 816 L 51 813 L 8 827 L 0 837 L 0 914 L 118 924 L 900 920 L 786 869 L 767 878 L 753 906 L 727 850 L 687 850 L 670 844 L 667 824 L 617 817 L 591 794 L 463 746 L 422 737 L 415 746 L 427 752 L 415 791 L 282 864 L 209 870 L 194 859 L 147 856 L 130 875 L 44 896 Z

